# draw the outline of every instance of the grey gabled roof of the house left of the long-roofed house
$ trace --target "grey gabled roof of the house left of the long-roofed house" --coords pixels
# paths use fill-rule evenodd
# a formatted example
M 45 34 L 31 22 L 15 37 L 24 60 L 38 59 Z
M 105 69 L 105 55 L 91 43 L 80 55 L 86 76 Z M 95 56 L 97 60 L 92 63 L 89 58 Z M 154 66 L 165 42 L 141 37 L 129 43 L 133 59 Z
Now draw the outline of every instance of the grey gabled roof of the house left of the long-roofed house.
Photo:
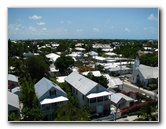
M 43 77 L 40 81 L 35 84 L 35 92 L 38 98 L 44 95 L 52 87 L 66 94 L 57 84 Z

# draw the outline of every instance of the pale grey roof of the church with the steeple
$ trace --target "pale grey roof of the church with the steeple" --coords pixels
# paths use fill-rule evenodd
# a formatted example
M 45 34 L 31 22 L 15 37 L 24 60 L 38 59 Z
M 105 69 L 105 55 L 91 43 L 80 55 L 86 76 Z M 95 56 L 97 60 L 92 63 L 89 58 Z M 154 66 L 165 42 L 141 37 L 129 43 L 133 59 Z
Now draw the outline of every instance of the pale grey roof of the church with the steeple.
M 145 79 L 158 78 L 159 69 L 158 67 L 151 67 L 146 65 L 139 65 L 139 70 Z

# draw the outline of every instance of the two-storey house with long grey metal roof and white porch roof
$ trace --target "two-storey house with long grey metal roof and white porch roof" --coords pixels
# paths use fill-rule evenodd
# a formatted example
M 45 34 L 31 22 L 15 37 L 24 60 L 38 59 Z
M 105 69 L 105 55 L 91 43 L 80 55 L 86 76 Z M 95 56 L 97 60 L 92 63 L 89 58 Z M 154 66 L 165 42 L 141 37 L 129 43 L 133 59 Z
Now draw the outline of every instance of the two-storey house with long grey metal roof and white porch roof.
M 111 93 L 105 87 L 77 72 L 69 74 L 65 81 L 71 86 L 72 94 L 78 100 L 80 107 L 89 105 L 91 113 L 110 111 Z

